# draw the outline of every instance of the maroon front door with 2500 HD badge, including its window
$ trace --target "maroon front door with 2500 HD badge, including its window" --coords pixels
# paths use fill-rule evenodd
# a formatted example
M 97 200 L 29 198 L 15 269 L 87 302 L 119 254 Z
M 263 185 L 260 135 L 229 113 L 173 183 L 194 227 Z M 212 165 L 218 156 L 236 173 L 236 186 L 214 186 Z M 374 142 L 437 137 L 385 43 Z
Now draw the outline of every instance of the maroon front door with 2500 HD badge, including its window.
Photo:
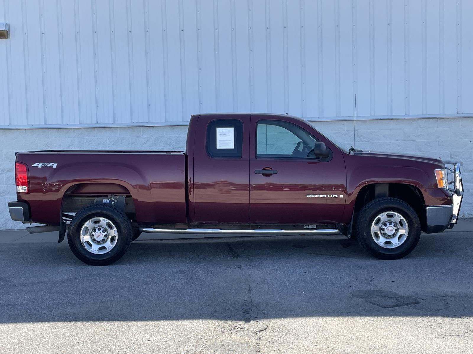
M 313 155 L 316 142 L 330 150 Z M 342 152 L 305 121 L 251 116 L 250 223 L 340 222 L 346 198 Z

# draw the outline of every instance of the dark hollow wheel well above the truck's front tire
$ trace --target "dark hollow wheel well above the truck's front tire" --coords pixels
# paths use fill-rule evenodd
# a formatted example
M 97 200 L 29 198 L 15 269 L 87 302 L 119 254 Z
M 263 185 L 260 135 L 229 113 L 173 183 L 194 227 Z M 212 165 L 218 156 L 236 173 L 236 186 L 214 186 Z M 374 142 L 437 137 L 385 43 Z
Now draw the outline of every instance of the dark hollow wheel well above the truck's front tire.
M 408 203 L 416 211 L 422 230 L 425 230 L 425 202 L 419 188 L 401 183 L 374 183 L 363 186 L 356 197 L 355 215 L 368 202 L 382 197 L 392 197 Z

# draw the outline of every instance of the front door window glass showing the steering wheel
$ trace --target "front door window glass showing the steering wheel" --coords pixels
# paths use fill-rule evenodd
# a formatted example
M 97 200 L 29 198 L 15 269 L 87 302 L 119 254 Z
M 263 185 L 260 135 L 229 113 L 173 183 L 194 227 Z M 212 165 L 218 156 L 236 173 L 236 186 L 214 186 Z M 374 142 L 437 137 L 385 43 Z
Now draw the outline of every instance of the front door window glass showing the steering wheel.
M 317 140 L 300 126 L 277 120 L 256 125 L 256 157 L 307 158 Z

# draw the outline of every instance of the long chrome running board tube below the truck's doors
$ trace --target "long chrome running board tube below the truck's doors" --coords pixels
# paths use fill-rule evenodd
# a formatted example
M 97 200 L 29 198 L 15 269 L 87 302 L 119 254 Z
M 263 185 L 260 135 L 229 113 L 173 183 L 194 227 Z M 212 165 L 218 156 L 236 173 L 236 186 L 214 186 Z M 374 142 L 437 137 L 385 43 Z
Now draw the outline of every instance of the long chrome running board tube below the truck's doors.
M 219 228 L 140 228 L 141 232 L 153 234 L 216 234 L 216 235 L 340 235 L 342 232 L 335 228 L 280 230 L 280 229 L 254 229 L 254 230 L 220 230 Z

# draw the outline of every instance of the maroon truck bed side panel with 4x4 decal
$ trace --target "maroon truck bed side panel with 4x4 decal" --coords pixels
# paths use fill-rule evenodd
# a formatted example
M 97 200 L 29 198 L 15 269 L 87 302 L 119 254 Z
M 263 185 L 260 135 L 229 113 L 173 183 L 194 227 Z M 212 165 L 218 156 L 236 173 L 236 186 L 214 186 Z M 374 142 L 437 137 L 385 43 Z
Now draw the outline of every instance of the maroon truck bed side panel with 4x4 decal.
M 79 185 L 94 190 L 93 184 L 106 184 L 107 194 L 131 196 L 137 222 L 184 223 L 186 160 L 177 151 L 18 152 L 17 161 L 29 173 L 29 193 L 19 194 L 18 201 L 28 202 L 34 222 L 57 224 L 63 196 Z M 110 193 L 114 185 L 117 192 Z

